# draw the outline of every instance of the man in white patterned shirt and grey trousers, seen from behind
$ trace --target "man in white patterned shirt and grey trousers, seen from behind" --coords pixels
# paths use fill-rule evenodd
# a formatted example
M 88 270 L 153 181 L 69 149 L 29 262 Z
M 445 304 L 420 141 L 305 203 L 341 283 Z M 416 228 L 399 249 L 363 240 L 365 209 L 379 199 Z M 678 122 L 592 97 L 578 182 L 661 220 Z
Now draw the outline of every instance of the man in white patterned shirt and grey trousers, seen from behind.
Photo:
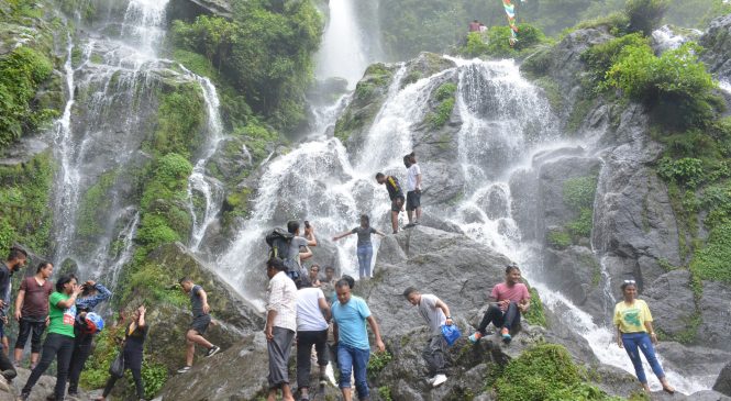
M 281 399 L 293 401 L 289 387 L 289 353 L 297 332 L 297 287 L 286 274 L 287 266 L 279 258 L 272 258 L 266 264 L 269 285 L 266 291 L 266 326 L 264 333 L 269 354 L 269 394 L 267 401 L 274 401 L 277 390 L 281 389 Z M 312 346 L 310 346 L 312 349 Z M 309 360 L 310 352 L 307 352 Z M 299 363 L 299 359 L 298 359 Z M 299 378 L 298 378 L 299 379 Z

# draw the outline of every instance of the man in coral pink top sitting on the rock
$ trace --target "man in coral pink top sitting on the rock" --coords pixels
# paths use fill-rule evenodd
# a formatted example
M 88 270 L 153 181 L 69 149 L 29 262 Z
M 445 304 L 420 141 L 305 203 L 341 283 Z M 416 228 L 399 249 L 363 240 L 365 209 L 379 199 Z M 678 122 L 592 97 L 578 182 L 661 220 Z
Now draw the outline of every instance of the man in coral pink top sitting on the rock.
M 525 313 L 531 304 L 531 294 L 528 287 L 520 282 L 520 268 L 510 265 L 506 268 L 506 280 L 492 288 L 490 293 L 490 307 L 485 312 L 483 321 L 469 341 L 477 343 L 486 335 L 487 325 L 492 323 L 500 328 L 502 342 L 508 344 L 512 339 L 510 328 L 520 323 L 520 314 Z

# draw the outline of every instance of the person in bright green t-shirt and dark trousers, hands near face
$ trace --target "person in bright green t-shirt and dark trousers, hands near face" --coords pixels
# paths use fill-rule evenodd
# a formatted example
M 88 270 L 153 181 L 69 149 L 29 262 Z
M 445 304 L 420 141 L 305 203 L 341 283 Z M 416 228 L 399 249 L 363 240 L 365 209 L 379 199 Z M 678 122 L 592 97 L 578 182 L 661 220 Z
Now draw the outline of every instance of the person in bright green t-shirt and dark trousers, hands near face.
M 31 371 L 27 382 L 20 394 L 21 400 L 27 400 L 31 389 L 41 378 L 54 358 L 57 358 L 55 400 L 63 400 L 66 393 L 66 377 L 68 365 L 74 352 L 74 322 L 76 321 L 76 298 L 81 293 L 76 276 L 62 276 L 56 282 L 56 291 L 48 298 L 48 335 L 43 343 L 41 361 Z

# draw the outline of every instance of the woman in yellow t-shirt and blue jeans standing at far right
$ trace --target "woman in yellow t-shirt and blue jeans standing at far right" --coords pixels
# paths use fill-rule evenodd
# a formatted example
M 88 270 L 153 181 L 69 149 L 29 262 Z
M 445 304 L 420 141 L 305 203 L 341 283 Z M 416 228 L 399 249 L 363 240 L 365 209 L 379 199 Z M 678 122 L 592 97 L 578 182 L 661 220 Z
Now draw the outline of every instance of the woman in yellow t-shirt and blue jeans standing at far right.
M 675 389 L 667 382 L 665 372 L 655 356 L 653 344 L 657 344 L 657 334 L 652 327 L 652 314 L 647 303 L 636 299 L 638 287 L 634 280 L 624 280 L 621 286 L 624 300 L 614 305 L 614 325 L 617 326 L 617 344 L 630 356 L 638 379 L 644 391 L 650 392 L 647 377 L 642 367 L 640 350 L 644 354 L 652 371 L 663 385 L 663 390 L 674 393 Z

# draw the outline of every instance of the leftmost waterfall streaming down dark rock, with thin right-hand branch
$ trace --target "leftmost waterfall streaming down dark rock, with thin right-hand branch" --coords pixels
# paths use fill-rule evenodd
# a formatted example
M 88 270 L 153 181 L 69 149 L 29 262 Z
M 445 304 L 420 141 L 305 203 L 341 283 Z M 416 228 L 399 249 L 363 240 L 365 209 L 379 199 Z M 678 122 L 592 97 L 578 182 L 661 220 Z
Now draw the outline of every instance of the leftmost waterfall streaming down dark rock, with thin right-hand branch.
M 203 174 L 222 137 L 218 96 L 208 79 L 186 70 L 179 74 L 180 66 L 158 58 L 166 7 L 167 0 L 131 0 L 123 13 L 110 12 L 98 30 L 80 35 L 80 58 L 73 57 L 69 38 L 68 102 L 54 131 L 62 182 L 55 191 L 54 259 L 75 261 L 85 278 L 104 277 L 115 283 L 130 260 L 140 216 L 129 172 L 148 159 L 141 148 L 165 80 L 199 85 L 208 107 L 208 146 L 191 177 L 192 191 L 206 201 L 200 216 L 193 213 L 193 247 L 221 204 L 220 185 Z M 119 37 L 109 32 L 120 32 Z

